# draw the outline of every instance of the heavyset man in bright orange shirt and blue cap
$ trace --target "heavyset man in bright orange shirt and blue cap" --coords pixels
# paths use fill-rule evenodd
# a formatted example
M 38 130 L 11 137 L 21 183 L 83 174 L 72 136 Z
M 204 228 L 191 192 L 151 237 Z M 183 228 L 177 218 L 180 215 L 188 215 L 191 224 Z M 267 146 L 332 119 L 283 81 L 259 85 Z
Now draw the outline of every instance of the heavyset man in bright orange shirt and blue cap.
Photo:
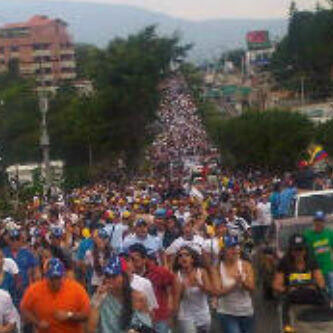
M 90 311 L 84 288 L 65 278 L 65 268 L 58 258 L 50 259 L 46 277 L 25 292 L 21 311 L 38 333 L 83 333 L 83 322 Z

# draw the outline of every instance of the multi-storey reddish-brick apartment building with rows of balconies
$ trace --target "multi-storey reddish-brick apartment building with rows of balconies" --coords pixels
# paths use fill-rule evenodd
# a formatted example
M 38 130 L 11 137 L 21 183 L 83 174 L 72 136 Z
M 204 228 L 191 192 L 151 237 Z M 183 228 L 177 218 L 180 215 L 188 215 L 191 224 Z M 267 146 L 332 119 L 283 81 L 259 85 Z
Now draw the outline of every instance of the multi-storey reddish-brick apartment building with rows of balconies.
M 34 76 L 40 86 L 57 86 L 74 80 L 75 52 L 66 22 L 36 15 L 23 23 L 0 28 L 0 72 L 17 66 Z

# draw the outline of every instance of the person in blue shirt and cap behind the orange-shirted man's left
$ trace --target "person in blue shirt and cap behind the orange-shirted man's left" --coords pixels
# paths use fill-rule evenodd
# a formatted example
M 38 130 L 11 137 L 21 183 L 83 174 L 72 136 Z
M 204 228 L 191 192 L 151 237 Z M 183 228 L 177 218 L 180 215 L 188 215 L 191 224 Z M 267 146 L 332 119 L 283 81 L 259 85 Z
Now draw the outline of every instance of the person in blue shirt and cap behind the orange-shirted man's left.
M 9 231 L 8 246 L 3 249 L 5 258 L 11 258 L 19 268 L 16 279 L 17 299 L 22 298 L 26 288 L 40 277 L 38 262 L 32 252 L 22 244 L 18 229 Z

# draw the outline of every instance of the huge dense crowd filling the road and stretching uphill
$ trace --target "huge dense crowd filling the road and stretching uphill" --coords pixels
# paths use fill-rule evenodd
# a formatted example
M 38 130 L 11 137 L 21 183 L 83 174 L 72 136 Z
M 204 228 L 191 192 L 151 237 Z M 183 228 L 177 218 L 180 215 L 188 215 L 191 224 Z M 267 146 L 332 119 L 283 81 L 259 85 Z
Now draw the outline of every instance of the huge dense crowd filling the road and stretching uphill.
M 35 200 L 25 219 L 2 221 L 0 332 L 208 333 L 213 315 L 224 333 L 255 332 L 253 248 L 290 213 L 294 178 L 212 166 L 216 149 L 186 83 L 172 77 L 161 94 L 149 174 Z M 330 287 L 332 299 L 333 234 L 324 214 L 314 220 L 290 240 L 276 293 L 301 284 L 323 301 Z M 299 290 L 284 300 L 286 332 Z

